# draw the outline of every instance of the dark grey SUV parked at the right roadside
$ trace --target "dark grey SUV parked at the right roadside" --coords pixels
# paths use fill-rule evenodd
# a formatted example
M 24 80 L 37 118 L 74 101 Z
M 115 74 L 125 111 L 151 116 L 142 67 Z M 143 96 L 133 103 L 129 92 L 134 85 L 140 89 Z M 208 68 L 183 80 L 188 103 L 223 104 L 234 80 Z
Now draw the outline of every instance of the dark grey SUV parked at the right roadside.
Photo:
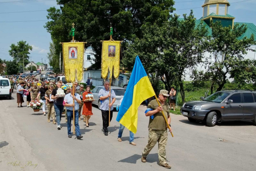
M 235 120 L 251 120 L 256 125 L 256 91 L 224 90 L 201 100 L 184 103 L 181 114 L 191 122 L 206 122 L 207 126 Z

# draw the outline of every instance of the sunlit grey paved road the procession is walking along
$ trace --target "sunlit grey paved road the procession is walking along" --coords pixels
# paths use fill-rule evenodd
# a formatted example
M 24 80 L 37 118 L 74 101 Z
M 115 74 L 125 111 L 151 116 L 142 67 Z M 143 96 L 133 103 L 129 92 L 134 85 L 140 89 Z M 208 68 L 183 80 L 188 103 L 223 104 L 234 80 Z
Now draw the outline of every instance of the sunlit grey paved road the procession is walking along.
M 148 162 L 140 161 L 148 138 L 148 117 L 145 117 L 143 106 L 139 108 L 138 131 L 134 136 L 137 146 L 133 146 L 129 144 L 127 129 L 123 142 L 117 141 L 117 112 L 113 113 L 109 136 L 105 136 L 101 112 L 93 107 L 90 127 L 79 121 L 84 137 L 77 140 L 76 136 L 67 137 L 64 116 L 63 128 L 57 130 L 56 125 L 47 122 L 42 111 L 17 108 L 15 95 L 12 100 L 0 98 L 1 171 L 166 170 L 157 165 L 157 146 L 148 155 Z M 172 171 L 255 170 L 256 126 L 252 122 L 207 127 L 204 123 L 190 123 L 180 115 L 172 114 L 171 117 L 174 137 L 168 137 L 166 153 Z M 15 161 L 16 166 L 13 166 Z

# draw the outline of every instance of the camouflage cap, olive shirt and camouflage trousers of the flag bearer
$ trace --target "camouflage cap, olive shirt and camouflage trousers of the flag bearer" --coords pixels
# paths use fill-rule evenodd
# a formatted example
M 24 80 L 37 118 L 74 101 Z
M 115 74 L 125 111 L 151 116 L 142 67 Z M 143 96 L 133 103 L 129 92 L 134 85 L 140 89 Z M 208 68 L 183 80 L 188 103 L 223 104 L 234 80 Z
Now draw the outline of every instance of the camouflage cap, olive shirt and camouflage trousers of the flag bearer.
M 167 90 L 161 90 L 160 93 L 167 96 Z M 160 105 L 163 107 L 163 113 L 165 114 L 166 119 L 169 116 L 169 105 L 167 102 L 165 104 Z M 159 107 L 157 100 L 151 100 L 148 104 L 147 111 L 153 111 Z M 146 111 L 146 112 L 147 112 Z M 148 144 L 145 146 L 142 156 L 147 157 L 149 152 L 158 142 L 158 159 L 159 164 L 164 165 L 166 164 L 166 143 L 167 143 L 167 124 L 163 118 L 162 112 L 157 112 L 156 114 L 152 115 L 149 119 L 148 124 Z

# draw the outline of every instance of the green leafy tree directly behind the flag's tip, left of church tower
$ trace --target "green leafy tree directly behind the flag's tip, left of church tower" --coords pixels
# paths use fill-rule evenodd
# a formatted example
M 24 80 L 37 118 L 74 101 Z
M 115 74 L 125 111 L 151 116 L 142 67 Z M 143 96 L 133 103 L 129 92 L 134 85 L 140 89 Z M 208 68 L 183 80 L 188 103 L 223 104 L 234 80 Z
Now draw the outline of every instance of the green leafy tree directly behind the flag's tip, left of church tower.
M 208 46 L 208 31 L 203 23 L 195 25 L 192 11 L 189 16 L 184 14 L 183 17 L 180 19 L 174 14 L 163 26 L 154 24 L 146 27 L 143 38 L 135 39 L 125 51 L 124 61 L 127 68 L 132 69 L 135 57 L 139 55 L 145 70 L 150 74 L 156 73 L 167 90 L 177 79 L 184 102 L 184 71 L 202 62 Z

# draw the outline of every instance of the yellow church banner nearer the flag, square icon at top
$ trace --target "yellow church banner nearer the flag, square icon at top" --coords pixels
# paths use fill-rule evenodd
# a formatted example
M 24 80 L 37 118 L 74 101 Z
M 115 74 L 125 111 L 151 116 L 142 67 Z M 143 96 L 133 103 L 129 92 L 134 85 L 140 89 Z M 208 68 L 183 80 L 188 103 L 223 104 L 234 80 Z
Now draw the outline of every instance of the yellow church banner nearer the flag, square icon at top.
M 102 78 L 112 78 L 112 74 L 116 79 L 119 77 L 120 64 L 120 41 L 102 41 Z

